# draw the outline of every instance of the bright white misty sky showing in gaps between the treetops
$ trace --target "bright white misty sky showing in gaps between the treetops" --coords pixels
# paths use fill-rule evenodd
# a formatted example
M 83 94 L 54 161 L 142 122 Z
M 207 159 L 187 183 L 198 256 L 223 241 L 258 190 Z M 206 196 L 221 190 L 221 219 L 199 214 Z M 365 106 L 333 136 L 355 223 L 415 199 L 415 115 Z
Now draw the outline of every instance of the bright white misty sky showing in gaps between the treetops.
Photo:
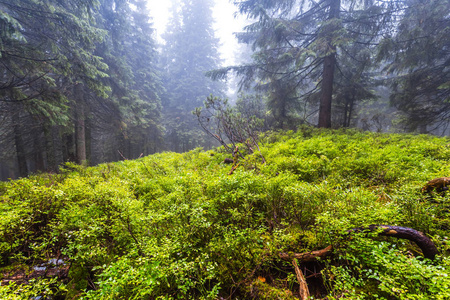
M 213 17 L 216 20 L 215 30 L 216 37 L 220 38 L 222 46 L 220 54 L 224 65 L 235 64 L 234 55 L 237 47 L 237 40 L 233 32 L 242 31 L 244 20 L 242 17 L 236 19 L 234 13 L 236 7 L 228 0 L 211 0 L 214 1 L 215 7 Z M 169 7 L 171 0 L 148 0 L 150 15 L 153 18 L 157 35 L 160 36 L 166 27 L 169 19 Z

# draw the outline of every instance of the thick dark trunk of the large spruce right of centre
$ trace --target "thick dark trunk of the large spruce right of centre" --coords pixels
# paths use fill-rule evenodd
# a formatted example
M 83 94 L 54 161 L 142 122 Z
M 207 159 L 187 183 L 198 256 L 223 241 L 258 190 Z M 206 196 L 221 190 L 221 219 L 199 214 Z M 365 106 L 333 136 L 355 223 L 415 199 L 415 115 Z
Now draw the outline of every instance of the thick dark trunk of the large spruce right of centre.
M 329 20 L 339 18 L 340 0 L 330 0 Z M 333 97 L 334 68 L 336 65 L 336 45 L 333 44 L 334 28 L 328 32 L 328 48 L 331 53 L 323 60 L 322 94 L 319 106 L 319 127 L 331 127 L 331 100 Z

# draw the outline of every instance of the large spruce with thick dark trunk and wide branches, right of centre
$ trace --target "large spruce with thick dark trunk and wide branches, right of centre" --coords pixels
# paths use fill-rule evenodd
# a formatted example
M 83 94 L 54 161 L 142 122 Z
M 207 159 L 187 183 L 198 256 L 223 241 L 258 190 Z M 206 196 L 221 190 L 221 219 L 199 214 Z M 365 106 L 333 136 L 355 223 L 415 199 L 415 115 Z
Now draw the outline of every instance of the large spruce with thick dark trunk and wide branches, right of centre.
M 319 127 L 332 125 L 334 91 L 340 78 L 337 72 L 349 72 L 349 61 L 364 66 L 359 72 L 369 71 L 371 65 L 359 62 L 350 50 L 364 45 L 373 51 L 389 29 L 395 6 L 376 0 L 245 0 L 237 5 L 241 13 L 255 20 L 238 35 L 241 42 L 253 45 L 254 61 L 210 75 L 222 78 L 235 71 L 244 77 L 244 84 L 256 83 L 256 88 L 280 86 L 282 81 L 292 90 L 290 95 L 297 95 L 297 101 L 319 102 Z M 274 101 L 281 105 L 286 98 L 280 95 Z

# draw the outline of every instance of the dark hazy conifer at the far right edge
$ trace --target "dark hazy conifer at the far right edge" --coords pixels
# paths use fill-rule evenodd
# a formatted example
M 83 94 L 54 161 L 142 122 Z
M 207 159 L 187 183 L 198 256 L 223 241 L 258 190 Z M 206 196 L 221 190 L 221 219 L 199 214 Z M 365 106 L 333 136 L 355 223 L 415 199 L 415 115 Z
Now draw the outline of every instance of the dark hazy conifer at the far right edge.
M 380 47 L 379 58 L 388 61 L 391 74 L 391 103 L 404 114 L 408 131 L 448 134 L 450 1 L 408 0 L 402 9 L 395 35 Z

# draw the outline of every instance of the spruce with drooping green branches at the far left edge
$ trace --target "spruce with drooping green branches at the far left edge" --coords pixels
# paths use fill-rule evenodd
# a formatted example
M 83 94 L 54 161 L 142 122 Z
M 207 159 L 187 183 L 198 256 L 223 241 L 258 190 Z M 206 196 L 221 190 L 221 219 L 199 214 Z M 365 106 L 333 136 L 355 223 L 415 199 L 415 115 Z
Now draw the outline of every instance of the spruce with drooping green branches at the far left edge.
M 35 139 L 45 127 L 68 124 L 70 93 L 65 91 L 70 82 L 79 76 L 94 90 L 103 89 L 97 79 L 106 66 L 91 53 L 103 33 L 90 24 L 91 1 L 7 0 L 0 8 L 0 23 L 7 29 L 1 36 L 0 96 L 5 105 L 15 108 L 6 117 L 13 118 L 10 130 L 16 137 L 15 151 L 24 176 L 30 165 L 26 160 L 42 155 L 40 146 L 21 149 L 27 140 Z M 7 132 L 2 133 L 8 136 Z

